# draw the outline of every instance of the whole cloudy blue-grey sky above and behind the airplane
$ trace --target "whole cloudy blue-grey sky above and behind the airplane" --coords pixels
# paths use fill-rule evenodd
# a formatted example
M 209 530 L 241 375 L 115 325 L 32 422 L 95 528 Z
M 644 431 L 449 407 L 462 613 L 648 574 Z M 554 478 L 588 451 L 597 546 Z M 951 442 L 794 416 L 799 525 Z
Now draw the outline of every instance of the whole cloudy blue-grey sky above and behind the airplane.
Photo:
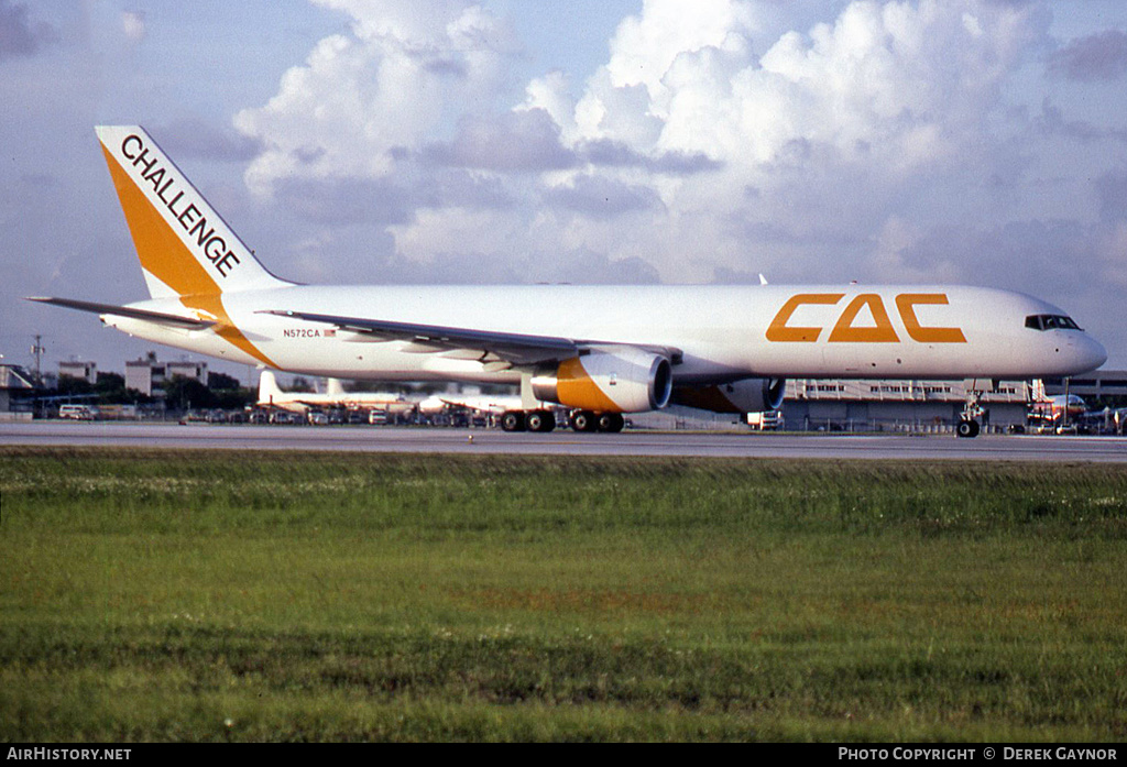
M 0 105 L 6 363 L 152 348 L 21 300 L 147 297 L 140 123 L 287 279 L 984 285 L 1127 368 L 1120 0 L 0 0 Z

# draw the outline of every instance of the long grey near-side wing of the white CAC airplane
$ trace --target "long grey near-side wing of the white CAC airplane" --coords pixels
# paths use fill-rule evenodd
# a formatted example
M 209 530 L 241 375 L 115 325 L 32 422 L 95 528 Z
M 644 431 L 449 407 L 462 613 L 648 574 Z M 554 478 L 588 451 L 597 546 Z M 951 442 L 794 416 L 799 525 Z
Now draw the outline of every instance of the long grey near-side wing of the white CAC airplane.
M 559 336 L 534 336 L 526 333 L 508 333 L 492 330 L 476 330 L 472 328 L 449 328 L 445 325 L 416 324 L 411 322 L 392 322 L 390 320 L 372 320 L 365 318 L 337 316 L 334 314 L 313 314 L 310 312 L 274 311 L 260 312 L 292 316 L 309 322 L 334 324 L 341 330 L 371 336 L 375 340 L 408 341 L 418 345 L 420 353 L 426 351 L 470 351 L 483 363 L 500 362 L 513 365 L 531 365 L 544 362 L 559 362 L 578 356 L 592 347 L 631 346 L 655 354 L 667 356 L 671 362 L 681 362 L 681 349 L 655 347 L 648 345 L 623 345 L 620 342 L 578 340 Z

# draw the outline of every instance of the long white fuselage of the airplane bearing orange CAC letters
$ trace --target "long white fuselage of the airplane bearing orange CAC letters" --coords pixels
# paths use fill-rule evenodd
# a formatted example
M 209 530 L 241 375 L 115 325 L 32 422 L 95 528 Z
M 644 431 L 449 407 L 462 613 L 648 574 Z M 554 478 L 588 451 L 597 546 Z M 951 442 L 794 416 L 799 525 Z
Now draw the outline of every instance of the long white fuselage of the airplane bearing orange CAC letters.
M 187 303 L 187 302 L 186 302 Z M 682 350 L 676 383 L 745 377 L 1028 378 L 1099 366 L 1079 329 L 1028 327 L 1064 316 L 1008 291 L 932 286 L 292 286 L 224 294 L 246 344 L 104 315 L 125 332 L 199 354 L 309 375 L 515 383 L 464 354 L 380 341 L 331 324 L 263 312 L 382 315 L 426 325 L 660 345 Z M 176 298 L 131 307 L 185 313 Z

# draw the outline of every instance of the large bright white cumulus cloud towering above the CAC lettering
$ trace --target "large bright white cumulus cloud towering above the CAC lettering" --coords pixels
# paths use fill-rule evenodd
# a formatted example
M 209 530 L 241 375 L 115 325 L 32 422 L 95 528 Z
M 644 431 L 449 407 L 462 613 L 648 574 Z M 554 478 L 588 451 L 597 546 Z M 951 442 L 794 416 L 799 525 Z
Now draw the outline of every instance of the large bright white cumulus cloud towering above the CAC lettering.
M 569 146 L 610 141 L 640 157 L 716 161 L 713 172 L 672 178 L 593 171 L 659 194 L 665 212 L 636 235 L 667 278 L 771 266 L 762 259 L 824 270 L 827 260 L 864 257 L 894 278 L 925 277 L 872 258 L 872 243 L 881 222 L 904 215 L 897 207 L 913 186 L 961 186 L 966 198 L 1005 175 L 995 169 L 1015 150 L 990 119 L 1044 37 L 1038 9 L 859 1 L 773 39 L 761 34 L 760 11 L 718 0 L 689 14 L 675 0 L 649 0 L 620 25 L 606 65 L 580 93 L 549 75 L 530 84 L 524 108 L 548 112 Z M 934 209 L 922 223 L 949 213 Z

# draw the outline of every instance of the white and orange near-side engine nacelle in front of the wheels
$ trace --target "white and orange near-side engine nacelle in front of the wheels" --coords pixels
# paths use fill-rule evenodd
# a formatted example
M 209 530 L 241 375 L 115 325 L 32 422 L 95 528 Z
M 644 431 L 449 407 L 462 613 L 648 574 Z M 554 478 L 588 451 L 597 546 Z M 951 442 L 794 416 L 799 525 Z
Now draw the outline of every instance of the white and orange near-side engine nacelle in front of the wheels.
M 672 391 L 669 360 L 629 347 L 542 365 L 532 377 L 538 400 L 596 412 L 660 410 Z

